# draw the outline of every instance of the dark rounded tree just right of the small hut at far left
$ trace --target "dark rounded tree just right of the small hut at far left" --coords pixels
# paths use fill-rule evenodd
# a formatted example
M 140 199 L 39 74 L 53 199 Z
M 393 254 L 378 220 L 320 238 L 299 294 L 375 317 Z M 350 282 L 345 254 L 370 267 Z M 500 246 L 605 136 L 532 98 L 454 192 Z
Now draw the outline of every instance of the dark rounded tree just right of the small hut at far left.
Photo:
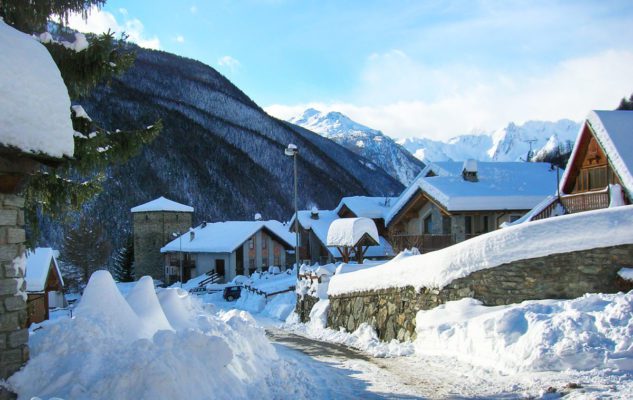
M 73 286 L 83 287 L 94 271 L 105 269 L 111 252 L 103 228 L 85 218 L 70 229 L 62 245 L 62 275 Z

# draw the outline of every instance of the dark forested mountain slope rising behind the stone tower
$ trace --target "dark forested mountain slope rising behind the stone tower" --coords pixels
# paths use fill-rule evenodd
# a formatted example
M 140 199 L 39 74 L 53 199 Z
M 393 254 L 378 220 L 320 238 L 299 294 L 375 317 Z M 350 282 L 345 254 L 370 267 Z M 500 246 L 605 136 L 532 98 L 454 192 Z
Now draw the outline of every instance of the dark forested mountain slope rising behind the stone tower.
M 392 195 L 403 188 L 336 143 L 270 117 L 213 68 L 173 54 L 138 49 L 129 71 L 79 103 L 111 129 L 158 118 L 164 123 L 140 155 L 110 168 L 104 191 L 82 212 L 105 225 L 115 246 L 131 229 L 130 208 L 159 196 L 193 206 L 196 222 L 251 219 L 257 212 L 289 219 L 288 143 L 299 147 L 300 207 L 331 208 L 342 196 Z M 48 221 L 42 242 L 59 246 L 63 230 Z

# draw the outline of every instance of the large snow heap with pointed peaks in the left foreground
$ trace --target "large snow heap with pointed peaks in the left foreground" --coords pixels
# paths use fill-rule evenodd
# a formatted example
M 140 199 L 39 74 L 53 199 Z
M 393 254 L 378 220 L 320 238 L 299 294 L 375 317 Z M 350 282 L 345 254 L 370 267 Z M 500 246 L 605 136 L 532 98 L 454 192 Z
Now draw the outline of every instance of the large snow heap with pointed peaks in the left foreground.
M 75 318 L 32 333 L 31 360 L 9 380 L 19 397 L 306 398 L 314 390 L 247 313 L 212 315 L 179 289 L 161 291 L 159 302 L 148 279 L 137 286 L 128 303 L 108 272 L 94 273 Z M 290 374 L 297 384 L 285 392 Z

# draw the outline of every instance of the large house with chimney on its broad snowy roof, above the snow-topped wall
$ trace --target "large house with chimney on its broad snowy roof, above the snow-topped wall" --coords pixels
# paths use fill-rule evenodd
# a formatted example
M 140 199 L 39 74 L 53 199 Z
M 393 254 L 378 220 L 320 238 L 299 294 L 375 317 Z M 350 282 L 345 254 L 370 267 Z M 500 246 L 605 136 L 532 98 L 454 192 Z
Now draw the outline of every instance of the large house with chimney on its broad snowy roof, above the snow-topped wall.
M 397 250 L 438 250 L 521 218 L 555 190 L 547 163 L 430 163 L 385 218 Z

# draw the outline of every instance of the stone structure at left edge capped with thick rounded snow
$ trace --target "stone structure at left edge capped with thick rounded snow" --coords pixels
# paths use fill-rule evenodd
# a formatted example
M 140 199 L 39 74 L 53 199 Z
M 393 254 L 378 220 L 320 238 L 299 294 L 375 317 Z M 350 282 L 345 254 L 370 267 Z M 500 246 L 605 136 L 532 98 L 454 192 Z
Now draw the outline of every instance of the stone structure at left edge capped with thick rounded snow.
M 0 20 L 0 379 L 27 361 L 24 203 L 28 175 L 74 153 L 70 98 L 46 48 Z M 0 399 L 12 398 L 0 388 Z

